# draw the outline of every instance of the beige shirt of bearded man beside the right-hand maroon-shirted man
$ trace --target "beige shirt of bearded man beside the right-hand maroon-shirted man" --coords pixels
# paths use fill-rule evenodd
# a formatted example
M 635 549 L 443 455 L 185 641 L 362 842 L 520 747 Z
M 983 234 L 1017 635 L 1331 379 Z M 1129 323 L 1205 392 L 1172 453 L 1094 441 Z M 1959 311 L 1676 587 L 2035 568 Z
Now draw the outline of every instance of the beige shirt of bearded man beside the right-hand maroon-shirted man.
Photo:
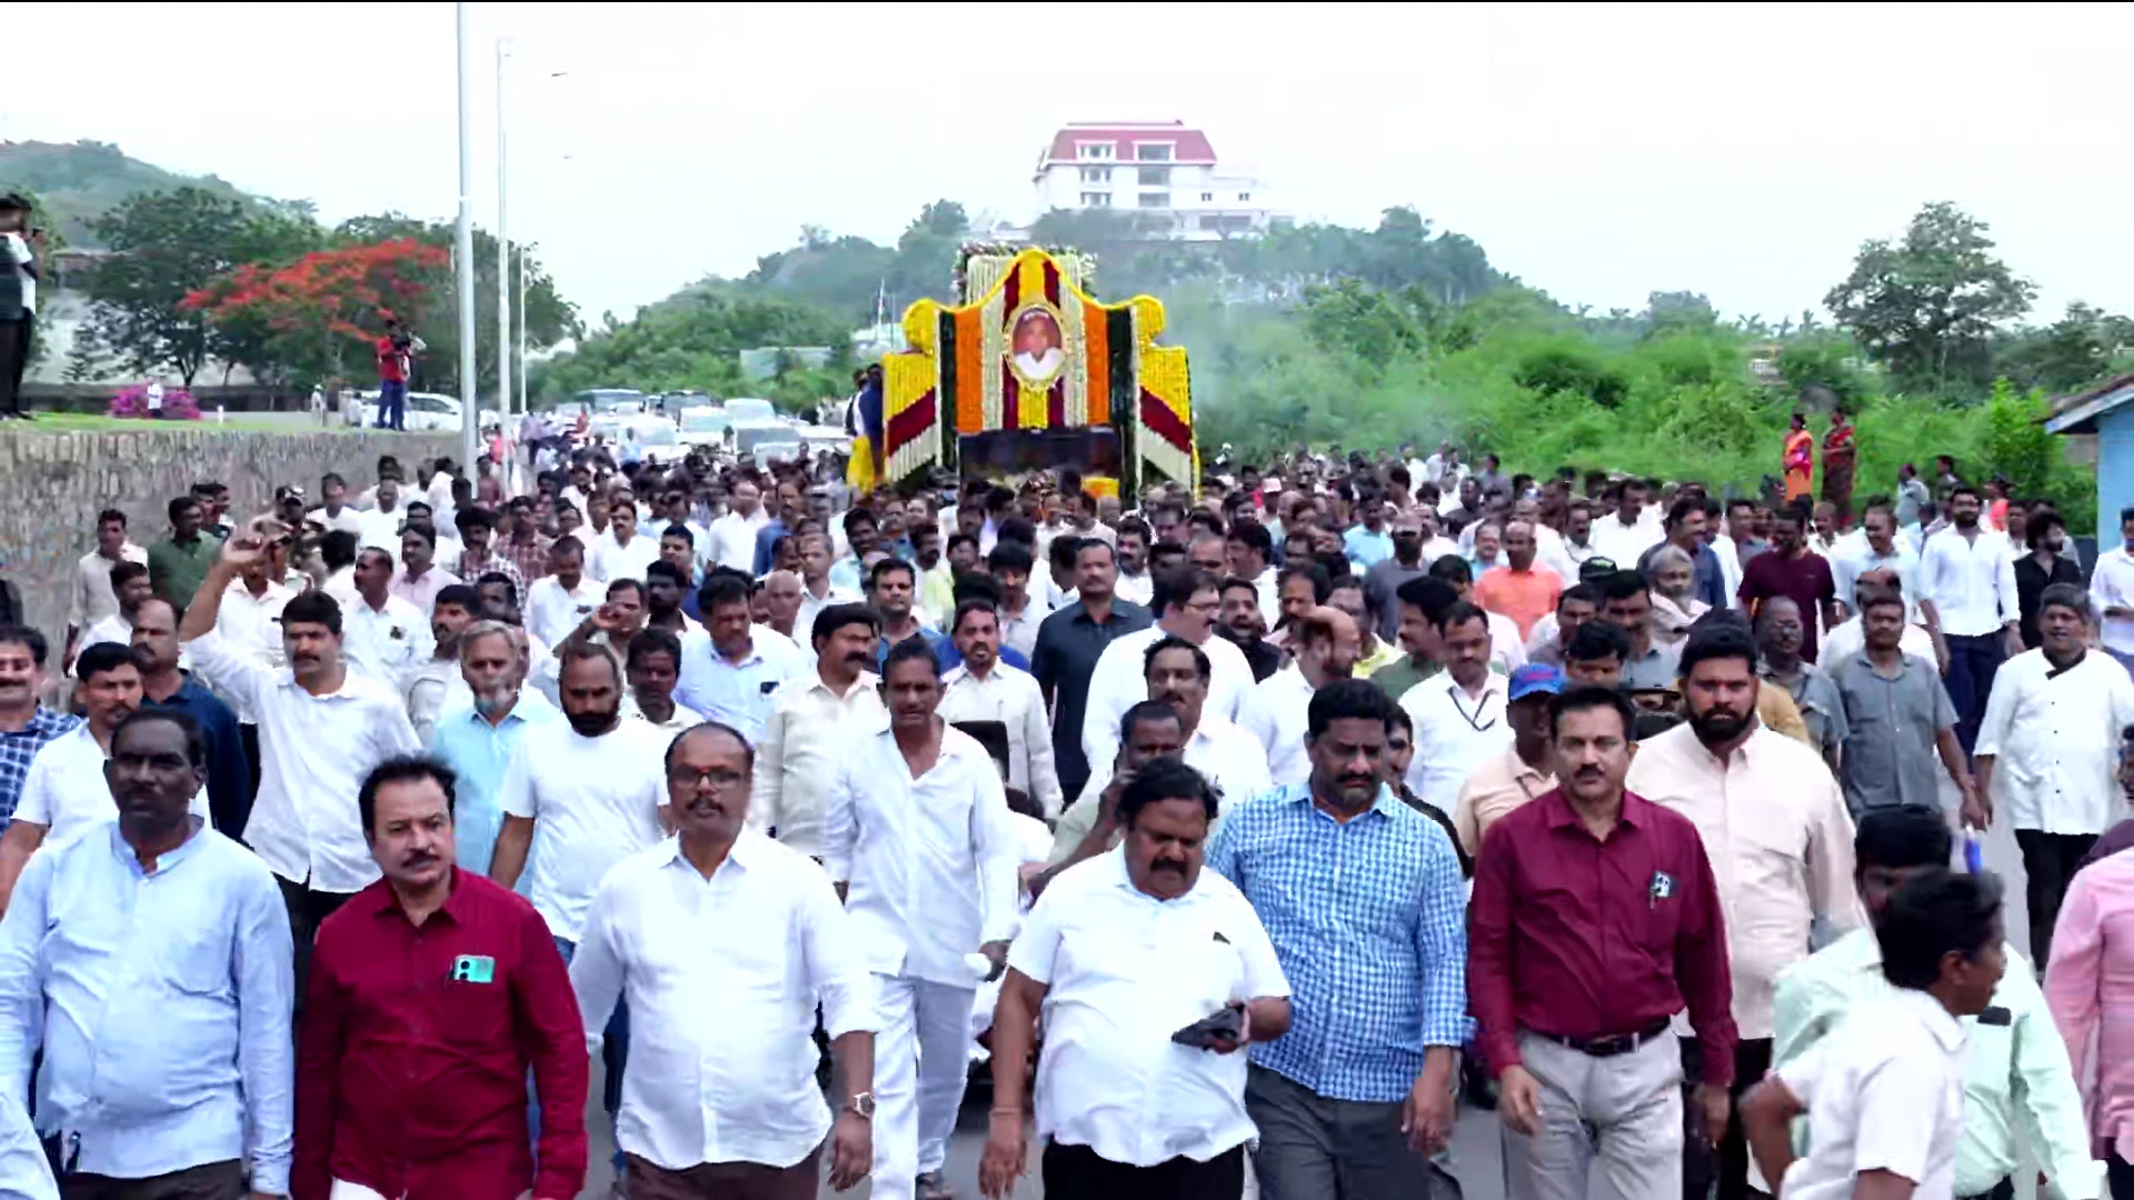
M 1865 925 L 1852 890 L 1852 818 L 1822 756 L 1756 728 L 1720 762 L 1682 724 L 1637 743 L 1624 786 L 1690 818 L 1726 914 L 1741 1038 L 1771 1036 L 1778 974 L 1807 957 L 1816 916 Z

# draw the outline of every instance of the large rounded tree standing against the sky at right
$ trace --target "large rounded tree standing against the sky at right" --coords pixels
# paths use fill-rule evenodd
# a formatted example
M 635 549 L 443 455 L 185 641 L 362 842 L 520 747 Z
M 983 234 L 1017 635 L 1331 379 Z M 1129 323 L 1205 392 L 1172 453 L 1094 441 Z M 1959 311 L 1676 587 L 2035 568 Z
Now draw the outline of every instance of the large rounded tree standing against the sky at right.
M 1899 382 L 1982 384 L 1989 340 L 2029 312 L 2036 286 L 1993 256 L 1987 224 L 1948 201 L 1912 218 L 1904 239 L 1869 239 L 1825 307 Z

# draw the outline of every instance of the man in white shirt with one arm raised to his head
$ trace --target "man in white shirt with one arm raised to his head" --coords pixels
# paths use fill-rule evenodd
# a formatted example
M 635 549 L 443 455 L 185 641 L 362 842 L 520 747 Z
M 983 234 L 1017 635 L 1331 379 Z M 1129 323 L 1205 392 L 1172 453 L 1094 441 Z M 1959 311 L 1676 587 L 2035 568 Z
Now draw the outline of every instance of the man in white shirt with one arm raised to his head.
M 414 754 L 420 743 L 401 694 L 341 660 L 341 606 L 333 598 L 305 591 L 282 609 L 288 666 L 269 670 L 224 645 L 216 632 L 222 596 L 265 553 L 250 532 L 224 542 L 177 636 L 201 679 L 260 717 L 260 788 L 243 835 L 282 884 L 301 989 L 318 922 L 378 871 L 356 820 L 356 790 L 371 767 Z

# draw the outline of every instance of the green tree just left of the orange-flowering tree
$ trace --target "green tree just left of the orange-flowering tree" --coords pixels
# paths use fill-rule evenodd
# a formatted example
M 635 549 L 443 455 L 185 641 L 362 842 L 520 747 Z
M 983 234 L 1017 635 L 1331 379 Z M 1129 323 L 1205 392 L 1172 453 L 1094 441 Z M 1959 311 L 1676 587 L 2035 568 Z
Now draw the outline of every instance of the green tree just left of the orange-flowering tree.
M 203 188 L 141 192 L 94 228 L 111 254 L 90 271 L 87 329 L 128 369 L 175 372 L 190 389 L 211 344 L 207 318 L 181 301 L 245 260 L 245 205 Z

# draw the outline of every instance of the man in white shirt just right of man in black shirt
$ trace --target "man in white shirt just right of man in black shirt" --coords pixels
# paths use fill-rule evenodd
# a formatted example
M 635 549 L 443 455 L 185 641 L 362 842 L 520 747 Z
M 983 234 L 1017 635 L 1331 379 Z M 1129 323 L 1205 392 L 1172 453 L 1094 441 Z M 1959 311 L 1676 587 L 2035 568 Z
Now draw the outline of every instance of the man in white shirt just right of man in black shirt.
M 1184 638 L 1206 653 L 1210 666 L 1206 711 L 1225 726 L 1238 720 L 1244 696 L 1257 681 L 1244 651 L 1214 636 L 1214 617 L 1223 611 L 1221 583 L 1214 574 L 1184 566 L 1159 574 L 1150 611 L 1157 623 L 1112 638 L 1088 675 L 1082 754 L 1093 769 L 1116 756 L 1120 717 L 1148 698 L 1148 647 L 1159 641 Z

